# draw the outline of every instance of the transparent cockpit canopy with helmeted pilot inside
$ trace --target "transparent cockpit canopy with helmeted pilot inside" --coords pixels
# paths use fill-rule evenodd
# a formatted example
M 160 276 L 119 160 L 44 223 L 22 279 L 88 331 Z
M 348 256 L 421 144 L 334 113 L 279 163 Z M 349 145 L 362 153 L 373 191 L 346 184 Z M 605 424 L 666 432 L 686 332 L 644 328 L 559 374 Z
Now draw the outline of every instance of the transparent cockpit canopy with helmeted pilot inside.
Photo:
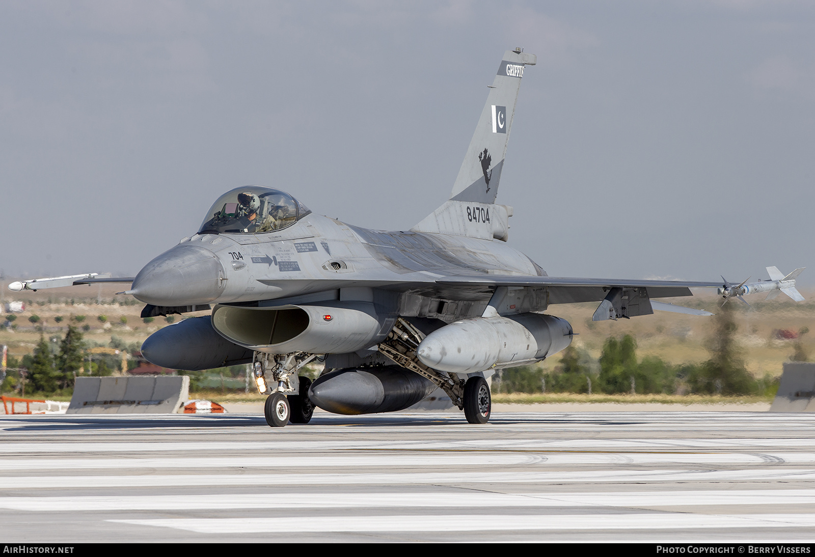
M 292 226 L 311 211 L 285 191 L 271 187 L 236 187 L 209 208 L 198 233 L 273 232 Z

